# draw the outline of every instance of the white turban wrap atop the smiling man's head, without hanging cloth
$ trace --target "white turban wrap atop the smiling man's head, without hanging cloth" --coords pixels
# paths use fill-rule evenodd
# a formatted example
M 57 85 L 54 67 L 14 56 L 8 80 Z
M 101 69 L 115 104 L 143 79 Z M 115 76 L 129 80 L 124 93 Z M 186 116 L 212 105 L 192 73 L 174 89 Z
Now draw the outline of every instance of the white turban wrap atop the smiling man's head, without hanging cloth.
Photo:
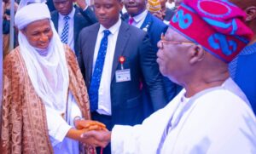
M 31 3 L 20 8 L 15 14 L 15 25 L 19 30 L 36 20 L 50 19 L 49 9 L 45 3 Z

